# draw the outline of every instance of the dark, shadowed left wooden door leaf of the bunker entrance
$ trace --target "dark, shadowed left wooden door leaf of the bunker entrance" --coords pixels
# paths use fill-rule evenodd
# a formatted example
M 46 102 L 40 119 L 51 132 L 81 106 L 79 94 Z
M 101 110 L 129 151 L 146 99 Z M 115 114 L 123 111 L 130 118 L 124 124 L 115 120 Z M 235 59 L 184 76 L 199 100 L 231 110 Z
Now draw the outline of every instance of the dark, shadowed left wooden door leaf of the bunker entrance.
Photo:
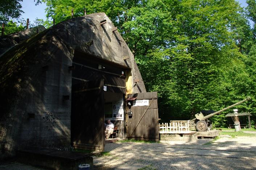
M 71 139 L 79 149 L 104 152 L 103 79 L 72 86 Z

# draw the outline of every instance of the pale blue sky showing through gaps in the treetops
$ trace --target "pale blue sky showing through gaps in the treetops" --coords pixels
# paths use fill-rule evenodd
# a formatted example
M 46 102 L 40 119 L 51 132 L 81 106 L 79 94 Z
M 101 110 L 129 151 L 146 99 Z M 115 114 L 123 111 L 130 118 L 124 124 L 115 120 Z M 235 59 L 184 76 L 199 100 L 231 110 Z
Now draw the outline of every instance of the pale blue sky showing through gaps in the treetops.
M 241 7 L 247 6 L 246 0 L 237 0 L 237 1 L 241 4 Z M 23 0 L 21 2 L 21 5 L 22 5 L 22 11 L 24 11 L 24 13 L 21 15 L 21 18 L 24 18 L 24 20 L 29 18 L 30 23 L 33 23 L 33 21 L 35 21 L 36 18 L 46 20 L 46 16 L 45 16 L 46 4 L 45 3 L 39 4 L 36 6 L 34 0 Z

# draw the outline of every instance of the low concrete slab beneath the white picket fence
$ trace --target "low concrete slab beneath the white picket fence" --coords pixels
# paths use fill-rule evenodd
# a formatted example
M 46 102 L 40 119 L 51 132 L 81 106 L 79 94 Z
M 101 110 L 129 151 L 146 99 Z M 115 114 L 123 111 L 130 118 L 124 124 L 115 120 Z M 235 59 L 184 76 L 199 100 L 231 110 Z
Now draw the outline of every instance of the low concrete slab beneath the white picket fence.
M 197 141 L 197 134 L 160 134 L 160 140 Z

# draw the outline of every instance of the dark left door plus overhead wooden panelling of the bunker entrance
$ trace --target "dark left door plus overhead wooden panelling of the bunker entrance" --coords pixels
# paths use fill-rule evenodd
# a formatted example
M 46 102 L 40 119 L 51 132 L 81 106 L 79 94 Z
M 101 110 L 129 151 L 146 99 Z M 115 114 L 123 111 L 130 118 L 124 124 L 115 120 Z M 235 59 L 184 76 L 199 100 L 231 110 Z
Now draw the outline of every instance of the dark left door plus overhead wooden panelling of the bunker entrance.
M 128 69 L 75 51 L 71 97 L 71 145 L 74 148 L 104 151 L 104 92 L 125 94 Z

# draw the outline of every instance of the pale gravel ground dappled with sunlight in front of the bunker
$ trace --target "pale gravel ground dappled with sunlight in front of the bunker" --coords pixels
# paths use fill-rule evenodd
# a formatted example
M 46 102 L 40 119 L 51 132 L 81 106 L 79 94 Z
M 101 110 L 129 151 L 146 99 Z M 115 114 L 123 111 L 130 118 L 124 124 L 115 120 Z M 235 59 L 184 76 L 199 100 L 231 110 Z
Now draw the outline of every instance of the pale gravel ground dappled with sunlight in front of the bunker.
M 99 170 L 256 169 L 256 137 L 222 135 L 217 140 L 160 143 L 116 142 L 105 146 L 106 156 L 94 157 Z M 17 162 L 2 163 L 2 170 L 44 170 Z

